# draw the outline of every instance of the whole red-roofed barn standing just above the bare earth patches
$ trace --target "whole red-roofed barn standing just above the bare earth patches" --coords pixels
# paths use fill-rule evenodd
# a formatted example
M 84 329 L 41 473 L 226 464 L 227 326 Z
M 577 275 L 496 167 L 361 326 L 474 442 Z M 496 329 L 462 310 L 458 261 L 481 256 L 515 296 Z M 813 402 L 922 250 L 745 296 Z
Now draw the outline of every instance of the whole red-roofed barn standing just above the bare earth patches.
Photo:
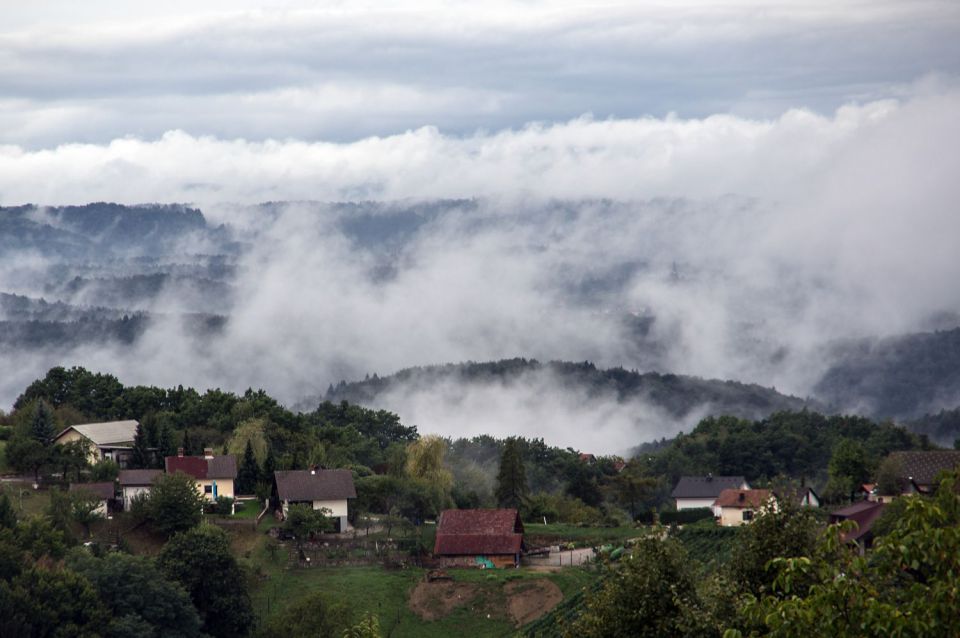
M 515 509 L 444 510 L 433 554 L 447 566 L 517 567 L 523 548 Z

